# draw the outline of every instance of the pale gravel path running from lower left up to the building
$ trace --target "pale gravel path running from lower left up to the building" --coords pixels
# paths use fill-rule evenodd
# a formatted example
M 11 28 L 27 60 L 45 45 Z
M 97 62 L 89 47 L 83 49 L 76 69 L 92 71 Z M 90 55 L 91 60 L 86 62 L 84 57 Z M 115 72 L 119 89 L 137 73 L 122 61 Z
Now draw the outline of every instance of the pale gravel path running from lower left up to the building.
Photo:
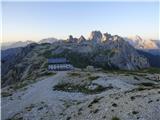
M 79 99 L 82 94 L 53 91 L 53 86 L 57 84 L 58 80 L 60 80 L 65 74 L 65 72 L 58 72 L 52 77 L 29 85 L 27 90 L 13 94 L 13 100 L 8 99 L 8 97 L 3 98 L 2 120 L 12 117 L 31 104 L 43 101 L 47 104 L 59 105 L 61 104 L 59 99 Z

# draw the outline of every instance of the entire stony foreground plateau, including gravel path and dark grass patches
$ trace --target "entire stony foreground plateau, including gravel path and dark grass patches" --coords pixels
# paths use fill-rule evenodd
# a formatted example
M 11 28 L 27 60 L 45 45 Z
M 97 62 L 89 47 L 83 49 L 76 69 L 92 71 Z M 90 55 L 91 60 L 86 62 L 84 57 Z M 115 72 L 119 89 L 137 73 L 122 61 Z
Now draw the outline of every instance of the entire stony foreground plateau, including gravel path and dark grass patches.
M 2 88 L 2 120 L 160 118 L 158 72 L 59 71 L 21 85 Z

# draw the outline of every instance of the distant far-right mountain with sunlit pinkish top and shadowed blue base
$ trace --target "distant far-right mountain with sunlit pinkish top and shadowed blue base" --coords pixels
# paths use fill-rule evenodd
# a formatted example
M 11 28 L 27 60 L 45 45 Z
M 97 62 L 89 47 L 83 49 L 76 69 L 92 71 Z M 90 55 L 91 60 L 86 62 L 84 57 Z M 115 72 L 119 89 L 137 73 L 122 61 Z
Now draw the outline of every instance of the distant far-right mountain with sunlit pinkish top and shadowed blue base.
M 134 38 L 124 38 L 137 51 L 145 56 L 152 67 L 160 67 L 160 41 L 144 40 L 140 36 Z

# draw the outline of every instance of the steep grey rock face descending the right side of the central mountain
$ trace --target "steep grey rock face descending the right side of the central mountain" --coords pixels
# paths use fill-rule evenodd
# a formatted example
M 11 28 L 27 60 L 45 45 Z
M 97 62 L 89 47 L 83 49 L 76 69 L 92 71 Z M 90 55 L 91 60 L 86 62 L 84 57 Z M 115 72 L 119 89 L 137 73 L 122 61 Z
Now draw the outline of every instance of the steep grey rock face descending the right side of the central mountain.
M 115 55 L 110 57 L 110 61 L 119 69 L 136 70 L 150 66 L 148 60 L 121 37 L 114 37 L 114 41 L 108 41 L 106 46 L 115 50 Z

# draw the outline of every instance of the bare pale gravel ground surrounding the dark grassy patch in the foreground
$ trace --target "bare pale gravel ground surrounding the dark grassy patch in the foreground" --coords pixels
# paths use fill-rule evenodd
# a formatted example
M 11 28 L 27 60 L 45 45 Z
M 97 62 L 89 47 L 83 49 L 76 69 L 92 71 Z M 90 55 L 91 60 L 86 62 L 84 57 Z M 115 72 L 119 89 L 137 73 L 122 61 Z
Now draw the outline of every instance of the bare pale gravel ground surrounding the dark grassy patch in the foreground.
M 88 74 L 81 73 L 81 75 Z M 136 89 L 139 87 L 138 83 L 153 82 L 152 80 L 137 80 L 133 76 L 101 73 L 92 73 L 91 75 L 101 76 L 93 80 L 92 83 L 106 87 L 111 85 L 113 88 L 90 95 L 55 91 L 53 86 L 59 82 L 81 84 L 87 80 L 84 78 L 88 78 L 88 76 L 82 78 L 72 76 L 71 79 L 68 77 L 68 72 L 58 72 L 54 76 L 28 85 L 26 90 L 20 89 L 12 96 L 3 97 L 2 120 L 8 118 L 23 120 L 111 120 L 114 116 L 121 120 L 159 120 L 159 87 L 150 86 L 151 89 Z

